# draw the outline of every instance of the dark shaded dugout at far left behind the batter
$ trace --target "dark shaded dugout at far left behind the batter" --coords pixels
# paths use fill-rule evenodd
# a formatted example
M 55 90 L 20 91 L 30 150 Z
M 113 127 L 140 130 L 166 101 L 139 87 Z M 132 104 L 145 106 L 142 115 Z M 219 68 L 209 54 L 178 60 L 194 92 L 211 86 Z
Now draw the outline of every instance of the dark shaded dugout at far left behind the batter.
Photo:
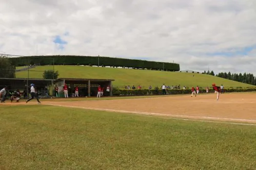
M 8 87 L 8 91 L 15 91 L 17 89 L 19 89 L 20 92 L 25 91 L 26 97 L 26 94 L 30 92 L 30 85 L 35 84 L 39 95 L 44 96 L 46 92 L 45 88 L 47 88 L 48 93 L 51 94 L 54 81 L 55 80 L 51 79 L 0 78 L 0 88 L 3 88 L 3 86 L 6 85 Z

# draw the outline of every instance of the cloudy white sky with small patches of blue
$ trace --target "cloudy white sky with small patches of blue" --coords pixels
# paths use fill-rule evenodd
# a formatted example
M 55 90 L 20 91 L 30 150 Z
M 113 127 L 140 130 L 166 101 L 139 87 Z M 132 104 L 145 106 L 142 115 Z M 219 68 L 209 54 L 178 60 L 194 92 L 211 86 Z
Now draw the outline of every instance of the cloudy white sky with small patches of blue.
M 0 0 L 0 53 L 256 74 L 256 0 Z

